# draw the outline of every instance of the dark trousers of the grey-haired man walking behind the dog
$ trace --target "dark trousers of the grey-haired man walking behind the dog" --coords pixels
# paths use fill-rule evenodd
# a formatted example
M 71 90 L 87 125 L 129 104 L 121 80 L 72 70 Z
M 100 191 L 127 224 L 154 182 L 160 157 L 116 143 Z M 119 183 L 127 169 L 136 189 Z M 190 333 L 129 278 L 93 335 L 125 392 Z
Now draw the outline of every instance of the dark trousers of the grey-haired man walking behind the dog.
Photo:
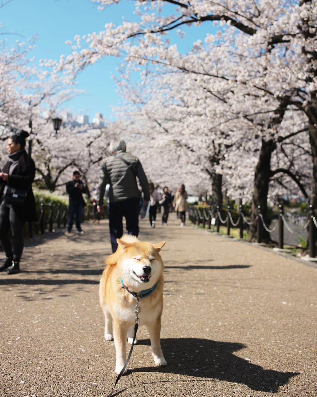
M 136 197 L 109 203 L 109 229 L 112 252 L 115 252 L 123 234 L 122 217 L 126 218 L 128 234 L 139 235 L 139 200 Z

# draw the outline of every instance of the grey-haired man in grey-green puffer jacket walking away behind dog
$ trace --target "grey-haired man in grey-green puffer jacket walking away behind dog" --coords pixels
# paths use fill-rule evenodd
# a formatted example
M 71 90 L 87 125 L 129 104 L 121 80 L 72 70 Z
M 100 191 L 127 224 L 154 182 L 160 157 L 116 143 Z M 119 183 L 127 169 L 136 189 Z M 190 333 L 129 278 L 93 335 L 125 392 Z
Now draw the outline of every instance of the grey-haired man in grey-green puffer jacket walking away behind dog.
M 141 162 L 136 156 L 126 152 L 126 143 L 121 139 L 113 140 L 110 150 L 112 155 L 101 166 L 97 210 L 103 212 L 103 195 L 109 183 L 109 229 L 112 251 L 115 252 L 118 246 L 116 239 L 123 234 L 123 216 L 126 218 L 128 234 L 139 235 L 139 189 L 136 177 L 143 191 L 145 207 L 150 193 Z

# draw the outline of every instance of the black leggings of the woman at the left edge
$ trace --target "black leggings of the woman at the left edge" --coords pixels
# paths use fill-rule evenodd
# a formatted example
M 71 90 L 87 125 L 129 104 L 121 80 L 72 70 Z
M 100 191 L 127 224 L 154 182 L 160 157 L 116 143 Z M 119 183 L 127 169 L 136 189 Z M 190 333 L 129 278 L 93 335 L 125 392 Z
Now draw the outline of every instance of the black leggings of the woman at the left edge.
M 6 202 L 0 206 L 0 241 L 6 256 L 13 256 L 13 260 L 19 261 L 23 252 L 23 229 L 25 222 L 21 221 L 13 207 Z M 13 236 L 13 251 L 8 232 L 11 227 Z

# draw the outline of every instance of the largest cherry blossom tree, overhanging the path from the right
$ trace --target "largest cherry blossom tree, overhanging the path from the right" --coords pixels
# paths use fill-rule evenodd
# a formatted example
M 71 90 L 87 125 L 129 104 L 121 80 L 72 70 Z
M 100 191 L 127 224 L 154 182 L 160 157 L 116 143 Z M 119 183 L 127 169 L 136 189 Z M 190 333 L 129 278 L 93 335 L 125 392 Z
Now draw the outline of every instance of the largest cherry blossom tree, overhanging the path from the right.
M 97 1 L 101 7 L 113 4 Z M 176 10 L 170 10 L 171 3 Z M 164 7 L 165 11 L 162 11 Z M 206 87 L 220 96 L 224 108 L 230 108 L 231 121 L 244 121 L 253 136 L 261 137 L 261 148 L 254 175 L 252 218 L 258 205 L 266 212 L 272 153 L 285 112 L 295 107 L 306 116 L 313 155 L 313 189 L 316 186 L 316 7 L 313 1 L 259 2 L 227 0 L 218 2 L 136 2 L 139 21 L 124 22 L 83 39 L 75 37 L 73 53 L 61 58 L 57 67 L 70 75 L 107 55 L 124 56 L 126 77 L 140 71 L 145 82 L 150 73 L 162 67 L 174 67 L 183 73 L 195 73 L 200 79 L 213 78 Z M 167 15 L 167 16 L 162 16 Z M 177 47 L 163 34 L 182 25 L 213 22 L 216 35 L 207 35 L 206 47 L 194 43 L 193 51 L 181 56 Z M 182 32 L 180 32 L 182 34 Z M 203 96 L 201 97 L 203 98 Z M 228 100 L 229 98 L 229 100 Z M 218 98 L 219 99 L 219 98 Z M 233 115 L 232 115 L 233 113 Z M 220 120 L 227 124 L 230 117 Z M 248 123 L 247 123 L 247 122 Z M 253 126 L 251 126 L 251 124 Z M 231 123 L 232 125 L 232 123 Z M 302 133 L 303 128 L 294 134 Z M 285 135 L 287 136 L 287 135 Z M 283 138 L 284 139 L 284 138 Z

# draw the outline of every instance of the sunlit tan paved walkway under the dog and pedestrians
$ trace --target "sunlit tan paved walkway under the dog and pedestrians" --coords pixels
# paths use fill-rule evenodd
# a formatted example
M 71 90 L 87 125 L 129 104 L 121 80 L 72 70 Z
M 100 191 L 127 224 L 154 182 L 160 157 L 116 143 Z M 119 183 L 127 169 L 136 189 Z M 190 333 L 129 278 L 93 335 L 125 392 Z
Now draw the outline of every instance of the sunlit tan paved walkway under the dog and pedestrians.
M 98 283 L 107 221 L 25 249 L 23 272 L 0 274 L 0 395 L 104 396 L 116 378 L 103 339 Z M 141 221 L 165 269 L 162 349 L 153 366 L 138 331 L 120 396 L 315 396 L 316 269 L 192 226 Z

